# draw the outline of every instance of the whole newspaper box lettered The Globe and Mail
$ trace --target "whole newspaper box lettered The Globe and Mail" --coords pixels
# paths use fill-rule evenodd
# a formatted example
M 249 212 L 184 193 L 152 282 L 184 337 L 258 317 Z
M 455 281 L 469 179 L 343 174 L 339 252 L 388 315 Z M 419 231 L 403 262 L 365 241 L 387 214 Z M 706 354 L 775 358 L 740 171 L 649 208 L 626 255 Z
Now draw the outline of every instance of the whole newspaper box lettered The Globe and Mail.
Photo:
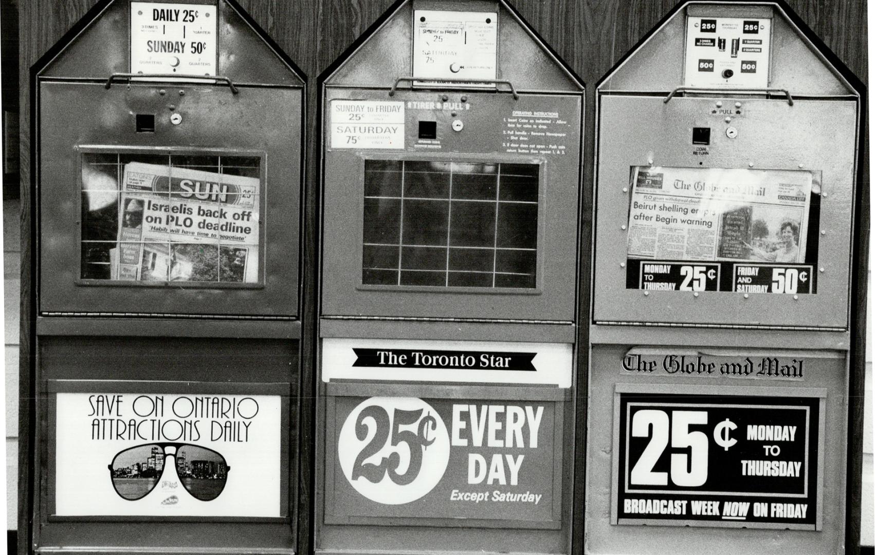
M 861 89 L 801 27 L 683 3 L 599 82 L 586 552 L 842 551 Z

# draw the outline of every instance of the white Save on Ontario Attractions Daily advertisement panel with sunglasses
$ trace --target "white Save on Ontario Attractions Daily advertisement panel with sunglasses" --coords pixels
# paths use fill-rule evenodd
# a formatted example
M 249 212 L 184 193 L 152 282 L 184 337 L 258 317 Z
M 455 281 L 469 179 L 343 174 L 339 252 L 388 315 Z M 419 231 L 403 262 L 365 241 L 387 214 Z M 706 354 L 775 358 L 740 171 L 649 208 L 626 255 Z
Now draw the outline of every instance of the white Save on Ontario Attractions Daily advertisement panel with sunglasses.
M 55 515 L 281 517 L 281 396 L 59 392 Z

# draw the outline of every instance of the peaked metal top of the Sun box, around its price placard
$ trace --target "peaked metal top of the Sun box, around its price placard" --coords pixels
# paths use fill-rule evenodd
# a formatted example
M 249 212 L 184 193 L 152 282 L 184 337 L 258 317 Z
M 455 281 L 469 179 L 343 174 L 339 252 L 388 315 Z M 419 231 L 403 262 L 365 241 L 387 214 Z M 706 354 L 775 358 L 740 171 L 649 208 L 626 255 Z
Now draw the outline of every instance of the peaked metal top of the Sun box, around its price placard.
M 130 73 L 130 3 L 97 3 L 38 59 L 31 74 L 50 79 L 106 81 L 114 73 Z M 217 76 L 235 85 L 304 86 L 304 73 L 235 0 L 209 4 L 218 7 Z

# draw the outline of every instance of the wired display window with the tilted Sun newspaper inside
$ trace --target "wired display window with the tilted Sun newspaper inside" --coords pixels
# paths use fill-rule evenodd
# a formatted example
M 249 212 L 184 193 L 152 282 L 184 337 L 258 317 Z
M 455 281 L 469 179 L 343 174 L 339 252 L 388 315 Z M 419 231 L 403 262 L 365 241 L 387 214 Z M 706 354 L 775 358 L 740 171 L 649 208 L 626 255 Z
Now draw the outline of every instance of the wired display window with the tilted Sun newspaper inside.
M 81 278 L 256 283 L 258 156 L 85 153 Z

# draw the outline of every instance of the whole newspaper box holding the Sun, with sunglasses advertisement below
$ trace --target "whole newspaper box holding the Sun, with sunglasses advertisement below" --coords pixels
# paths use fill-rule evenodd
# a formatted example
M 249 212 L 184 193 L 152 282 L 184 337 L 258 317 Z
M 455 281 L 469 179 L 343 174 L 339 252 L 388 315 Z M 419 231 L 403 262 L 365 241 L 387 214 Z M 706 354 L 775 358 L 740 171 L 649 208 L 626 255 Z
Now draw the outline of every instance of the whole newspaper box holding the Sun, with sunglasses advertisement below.
M 294 552 L 302 74 L 227 0 L 99 3 L 33 72 L 29 547 Z

